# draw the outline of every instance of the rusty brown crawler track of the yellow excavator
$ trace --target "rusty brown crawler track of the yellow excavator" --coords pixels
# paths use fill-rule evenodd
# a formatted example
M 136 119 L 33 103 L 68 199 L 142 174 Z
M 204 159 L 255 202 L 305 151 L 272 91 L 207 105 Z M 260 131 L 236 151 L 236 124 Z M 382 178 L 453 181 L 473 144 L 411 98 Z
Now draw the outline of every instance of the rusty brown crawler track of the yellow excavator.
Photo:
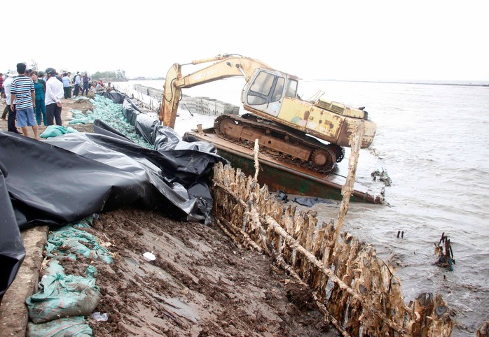
M 214 131 L 219 137 L 250 149 L 258 138 L 261 149 L 271 157 L 318 173 L 331 171 L 345 155 L 338 145 L 324 144 L 300 131 L 249 113 L 217 117 Z

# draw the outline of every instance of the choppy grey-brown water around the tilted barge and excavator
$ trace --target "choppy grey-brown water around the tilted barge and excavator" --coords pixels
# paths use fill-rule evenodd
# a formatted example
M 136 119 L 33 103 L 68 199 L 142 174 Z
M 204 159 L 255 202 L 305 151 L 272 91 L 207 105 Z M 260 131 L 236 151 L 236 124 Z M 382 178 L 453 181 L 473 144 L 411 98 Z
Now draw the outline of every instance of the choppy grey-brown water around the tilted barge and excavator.
M 133 83 L 163 88 L 163 81 Z M 228 79 L 186 89 L 241 106 L 242 79 Z M 442 294 L 455 310 L 452 336 L 474 336 L 489 320 L 489 87 L 409 83 L 303 81 L 308 98 L 319 89 L 323 98 L 366 106 L 378 125 L 371 148 L 361 150 L 357 182 L 380 188 L 371 172 L 385 169 L 392 186 L 388 206 L 350 203 L 344 230 L 376 247 L 399 269 L 406 302 L 422 292 Z M 182 111 L 175 129 L 184 131 L 212 117 Z M 324 221 L 337 207 L 313 207 Z M 404 231 L 404 238 L 397 232 Z M 434 243 L 442 233 L 451 240 L 454 271 L 434 266 Z

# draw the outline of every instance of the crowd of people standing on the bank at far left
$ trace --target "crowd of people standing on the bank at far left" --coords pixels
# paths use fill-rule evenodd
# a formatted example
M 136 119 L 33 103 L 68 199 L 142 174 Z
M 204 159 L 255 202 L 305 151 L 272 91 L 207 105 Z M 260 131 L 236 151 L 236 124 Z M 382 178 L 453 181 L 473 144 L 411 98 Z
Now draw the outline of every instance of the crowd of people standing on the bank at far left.
M 102 81 L 100 81 L 102 82 Z M 100 83 L 97 84 L 98 86 Z M 103 85 L 103 83 L 102 83 Z M 74 78 L 74 96 L 85 92 L 88 95 L 90 78 L 81 77 L 76 73 Z M 61 99 L 71 98 L 71 73 L 63 73 L 59 76 L 55 69 L 48 68 L 45 72 L 27 70 L 27 65 L 20 62 L 16 71 L 9 71 L 6 78 L 0 73 L 1 98 L 6 99 L 6 108 L 1 118 L 8 118 L 8 131 L 28 136 L 28 127 L 32 127 L 34 138 L 39 139 L 39 129 L 43 122 L 45 127 L 49 125 L 62 125 Z

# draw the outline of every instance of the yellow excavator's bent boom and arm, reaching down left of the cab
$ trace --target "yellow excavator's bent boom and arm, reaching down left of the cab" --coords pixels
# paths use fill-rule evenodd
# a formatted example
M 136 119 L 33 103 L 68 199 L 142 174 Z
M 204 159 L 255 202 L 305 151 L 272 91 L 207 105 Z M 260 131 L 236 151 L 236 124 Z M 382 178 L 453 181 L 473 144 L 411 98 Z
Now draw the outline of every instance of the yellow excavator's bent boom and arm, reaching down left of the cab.
M 243 76 L 246 81 L 249 81 L 256 69 L 271 69 L 270 66 L 259 60 L 240 55 L 218 55 L 210 59 L 198 59 L 190 64 L 209 62 L 214 63 L 186 76 L 182 76 L 181 66 L 188 64 L 175 63 L 172 65 L 165 78 L 163 103 L 160 110 L 160 122 L 163 122 L 163 125 L 174 128 L 181 89 L 235 76 Z

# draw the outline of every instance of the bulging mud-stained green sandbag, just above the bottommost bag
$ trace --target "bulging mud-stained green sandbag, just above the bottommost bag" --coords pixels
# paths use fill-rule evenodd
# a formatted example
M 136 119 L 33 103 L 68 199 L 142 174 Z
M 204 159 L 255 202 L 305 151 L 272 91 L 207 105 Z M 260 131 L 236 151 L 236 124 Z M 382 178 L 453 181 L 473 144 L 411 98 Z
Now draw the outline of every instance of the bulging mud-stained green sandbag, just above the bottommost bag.
M 34 323 L 49 322 L 62 317 L 88 316 L 100 301 L 95 278 L 66 275 L 57 260 L 50 260 L 36 294 L 25 303 Z

